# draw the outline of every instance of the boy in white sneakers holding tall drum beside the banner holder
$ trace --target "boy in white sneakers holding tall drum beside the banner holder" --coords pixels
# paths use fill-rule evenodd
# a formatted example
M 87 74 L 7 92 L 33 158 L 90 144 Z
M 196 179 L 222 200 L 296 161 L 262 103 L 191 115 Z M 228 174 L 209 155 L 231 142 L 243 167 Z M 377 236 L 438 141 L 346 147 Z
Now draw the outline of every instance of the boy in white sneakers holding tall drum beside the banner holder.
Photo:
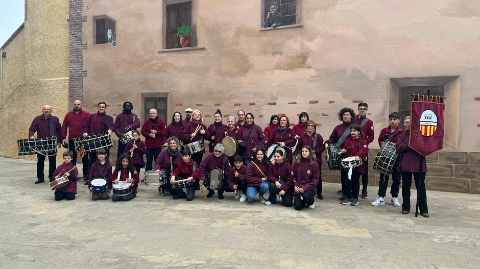
M 405 133 L 405 130 L 400 129 L 400 114 L 398 112 L 392 112 L 389 115 L 390 125 L 386 128 L 383 128 L 380 131 L 378 136 L 378 144 L 381 145 L 385 141 L 390 141 L 392 143 L 397 143 L 398 136 Z M 390 193 L 392 194 L 392 205 L 395 207 L 400 207 L 400 202 L 398 202 L 398 192 L 400 191 L 400 163 L 399 158 L 395 162 L 392 171 L 392 187 L 390 188 Z M 385 195 L 387 194 L 389 176 L 383 175 L 380 173 L 380 182 L 378 183 L 378 198 L 371 203 L 372 206 L 383 206 L 385 205 Z

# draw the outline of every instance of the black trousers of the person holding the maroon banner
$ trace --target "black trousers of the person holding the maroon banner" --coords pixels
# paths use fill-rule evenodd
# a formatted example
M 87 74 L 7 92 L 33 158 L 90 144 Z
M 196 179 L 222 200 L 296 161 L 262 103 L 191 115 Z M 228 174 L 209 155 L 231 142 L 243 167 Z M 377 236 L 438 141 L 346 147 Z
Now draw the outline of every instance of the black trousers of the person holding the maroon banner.
M 422 180 L 422 188 L 418 188 L 418 184 L 420 183 L 420 176 L 418 172 L 403 172 L 402 171 L 402 210 L 406 210 L 410 212 L 410 187 L 412 186 L 412 174 L 415 179 L 415 187 L 420 195 L 420 201 L 418 203 L 418 208 L 420 209 L 420 213 L 428 213 L 428 206 L 427 206 L 427 193 L 425 189 L 425 176 L 427 173 L 421 173 L 421 180 Z

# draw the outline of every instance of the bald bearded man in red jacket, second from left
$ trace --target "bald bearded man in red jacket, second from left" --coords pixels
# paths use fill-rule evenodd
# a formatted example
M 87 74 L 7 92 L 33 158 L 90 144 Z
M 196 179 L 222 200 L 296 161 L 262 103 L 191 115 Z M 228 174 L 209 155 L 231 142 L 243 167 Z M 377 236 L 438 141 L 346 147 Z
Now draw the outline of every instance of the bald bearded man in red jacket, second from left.
M 68 150 L 74 153 L 74 158 L 71 161 L 74 165 L 77 165 L 77 151 L 75 150 L 74 138 L 82 136 L 82 126 L 87 120 L 90 113 L 82 109 L 82 101 L 74 101 L 74 109 L 65 114 L 62 125 L 62 144 L 68 143 Z M 68 131 L 68 139 L 67 139 Z M 88 181 L 88 154 L 82 157 L 82 171 L 83 181 Z M 88 184 L 88 183 L 87 183 Z

